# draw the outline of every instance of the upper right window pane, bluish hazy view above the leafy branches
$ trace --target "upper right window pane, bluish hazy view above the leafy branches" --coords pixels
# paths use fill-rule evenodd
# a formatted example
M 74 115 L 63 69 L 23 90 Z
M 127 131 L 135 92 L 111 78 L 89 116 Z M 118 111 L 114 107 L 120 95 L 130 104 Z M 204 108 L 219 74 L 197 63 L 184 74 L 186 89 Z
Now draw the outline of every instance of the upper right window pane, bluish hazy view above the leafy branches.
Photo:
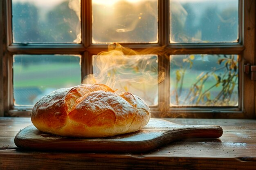
M 170 0 L 170 42 L 238 42 L 238 0 Z

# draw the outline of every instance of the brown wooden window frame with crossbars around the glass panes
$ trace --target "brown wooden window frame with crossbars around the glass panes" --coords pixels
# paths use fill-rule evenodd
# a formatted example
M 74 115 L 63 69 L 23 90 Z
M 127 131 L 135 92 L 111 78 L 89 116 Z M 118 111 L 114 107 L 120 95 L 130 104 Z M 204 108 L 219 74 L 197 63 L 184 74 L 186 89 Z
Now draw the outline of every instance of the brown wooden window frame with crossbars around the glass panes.
M 239 106 L 183 107 L 169 106 L 170 60 L 159 56 L 159 66 L 166 72 L 166 79 L 159 84 L 159 106 L 151 107 L 152 117 L 186 118 L 255 118 L 255 82 L 243 73 L 244 64 L 255 64 L 255 1 L 239 0 L 239 41 L 237 43 L 169 43 L 169 0 L 158 1 L 159 27 L 157 44 L 121 44 L 130 49 L 141 50 L 163 47 L 165 55 L 171 54 L 238 54 L 239 58 Z M 108 49 L 108 44 L 92 44 L 91 1 L 81 0 L 81 44 L 15 44 L 12 43 L 11 0 L 0 2 L 0 116 L 30 116 L 31 108 L 13 106 L 12 56 L 15 54 L 79 54 L 81 77 L 92 73 L 92 55 Z M 2 36 L 1 36 L 2 35 Z M 242 88 L 243 87 L 243 88 Z M 168 92 L 168 93 L 166 93 Z M 161 106 L 161 107 L 160 107 Z M 164 106 L 164 107 L 162 107 Z M 166 108 L 166 109 L 162 109 Z

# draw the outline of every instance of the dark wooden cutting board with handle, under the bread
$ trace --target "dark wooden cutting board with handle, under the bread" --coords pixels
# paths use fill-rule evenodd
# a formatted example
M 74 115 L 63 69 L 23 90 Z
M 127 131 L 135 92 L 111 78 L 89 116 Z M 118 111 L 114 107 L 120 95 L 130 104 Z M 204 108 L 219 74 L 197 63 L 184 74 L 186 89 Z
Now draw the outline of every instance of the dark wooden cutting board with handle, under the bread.
M 180 125 L 151 118 L 137 132 L 105 138 L 61 137 L 39 131 L 34 125 L 20 130 L 14 139 L 19 148 L 79 152 L 148 152 L 172 141 L 186 138 L 218 138 L 222 128 L 215 125 Z

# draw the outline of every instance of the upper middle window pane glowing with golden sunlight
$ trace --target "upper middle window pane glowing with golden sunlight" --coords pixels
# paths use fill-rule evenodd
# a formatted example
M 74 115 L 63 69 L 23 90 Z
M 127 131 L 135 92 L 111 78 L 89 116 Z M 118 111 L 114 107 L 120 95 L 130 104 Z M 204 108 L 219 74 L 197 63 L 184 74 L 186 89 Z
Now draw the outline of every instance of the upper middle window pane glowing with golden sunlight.
M 92 0 L 92 43 L 157 43 L 157 0 Z

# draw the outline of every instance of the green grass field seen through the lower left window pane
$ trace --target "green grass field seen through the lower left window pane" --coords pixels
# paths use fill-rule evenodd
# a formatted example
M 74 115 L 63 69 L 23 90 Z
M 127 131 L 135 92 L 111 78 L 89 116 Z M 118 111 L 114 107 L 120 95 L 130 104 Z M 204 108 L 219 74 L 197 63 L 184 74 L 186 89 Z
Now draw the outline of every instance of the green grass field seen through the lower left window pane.
M 13 66 L 14 87 L 63 88 L 81 84 L 77 63 L 34 64 Z

